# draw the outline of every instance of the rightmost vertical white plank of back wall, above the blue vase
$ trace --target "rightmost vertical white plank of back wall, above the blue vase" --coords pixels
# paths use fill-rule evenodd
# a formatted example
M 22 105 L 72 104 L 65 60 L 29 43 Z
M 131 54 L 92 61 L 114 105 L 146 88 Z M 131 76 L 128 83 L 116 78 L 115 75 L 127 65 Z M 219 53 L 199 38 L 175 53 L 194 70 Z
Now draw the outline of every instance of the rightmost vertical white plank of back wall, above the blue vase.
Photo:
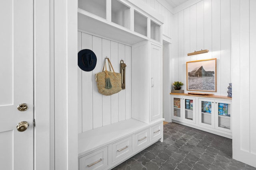
M 231 62 L 230 57 L 230 0 L 221 0 L 220 2 L 220 69 L 221 72 L 218 76 L 221 76 L 220 94 L 227 94 L 228 83 L 231 82 L 231 65 L 226 64 Z M 226 88 L 225 88 L 226 85 Z

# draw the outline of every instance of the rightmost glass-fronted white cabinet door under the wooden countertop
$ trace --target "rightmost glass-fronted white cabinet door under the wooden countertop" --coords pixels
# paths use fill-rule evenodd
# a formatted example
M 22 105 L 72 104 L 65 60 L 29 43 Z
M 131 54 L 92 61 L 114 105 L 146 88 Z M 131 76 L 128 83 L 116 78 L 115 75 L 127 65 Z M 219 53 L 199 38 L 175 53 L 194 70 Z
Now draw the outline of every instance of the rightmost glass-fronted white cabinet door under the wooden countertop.
M 215 100 L 215 129 L 232 132 L 231 102 Z

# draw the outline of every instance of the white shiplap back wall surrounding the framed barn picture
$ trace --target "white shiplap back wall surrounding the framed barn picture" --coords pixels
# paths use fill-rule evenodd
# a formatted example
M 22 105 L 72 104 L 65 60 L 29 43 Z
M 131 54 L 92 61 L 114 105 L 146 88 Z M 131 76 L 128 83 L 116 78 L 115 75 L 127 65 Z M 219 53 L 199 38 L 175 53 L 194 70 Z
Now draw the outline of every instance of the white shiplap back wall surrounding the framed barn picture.
M 178 62 L 174 62 L 178 64 L 179 73 L 174 80 L 186 83 L 187 61 L 217 58 L 217 92 L 214 94 L 226 96 L 231 82 L 230 0 L 202 0 L 177 14 L 178 21 L 175 22 L 176 14 L 173 20 L 178 29 L 173 25 L 172 41 L 176 43 L 177 39 L 178 47 L 174 48 L 172 57 L 178 58 Z M 201 49 L 208 49 L 209 53 L 187 56 Z M 184 90 L 187 92 L 186 84 Z

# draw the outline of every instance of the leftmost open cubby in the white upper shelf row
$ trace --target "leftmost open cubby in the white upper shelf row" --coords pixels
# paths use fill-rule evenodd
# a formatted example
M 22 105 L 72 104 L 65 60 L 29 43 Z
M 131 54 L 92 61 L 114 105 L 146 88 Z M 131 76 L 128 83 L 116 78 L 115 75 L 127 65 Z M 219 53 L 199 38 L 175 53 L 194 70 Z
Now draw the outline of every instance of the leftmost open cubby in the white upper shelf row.
M 106 19 L 106 0 L 78 0 L 78 8 Z

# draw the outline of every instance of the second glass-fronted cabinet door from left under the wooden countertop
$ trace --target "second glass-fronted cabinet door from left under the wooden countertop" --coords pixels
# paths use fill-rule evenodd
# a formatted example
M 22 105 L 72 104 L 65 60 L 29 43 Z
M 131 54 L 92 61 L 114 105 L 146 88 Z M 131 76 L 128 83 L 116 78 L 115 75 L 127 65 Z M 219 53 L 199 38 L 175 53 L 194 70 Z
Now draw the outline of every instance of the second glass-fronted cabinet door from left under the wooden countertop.
M 183 97 L 182 106 L 183 120 L 196 123 L 196 98 Z

